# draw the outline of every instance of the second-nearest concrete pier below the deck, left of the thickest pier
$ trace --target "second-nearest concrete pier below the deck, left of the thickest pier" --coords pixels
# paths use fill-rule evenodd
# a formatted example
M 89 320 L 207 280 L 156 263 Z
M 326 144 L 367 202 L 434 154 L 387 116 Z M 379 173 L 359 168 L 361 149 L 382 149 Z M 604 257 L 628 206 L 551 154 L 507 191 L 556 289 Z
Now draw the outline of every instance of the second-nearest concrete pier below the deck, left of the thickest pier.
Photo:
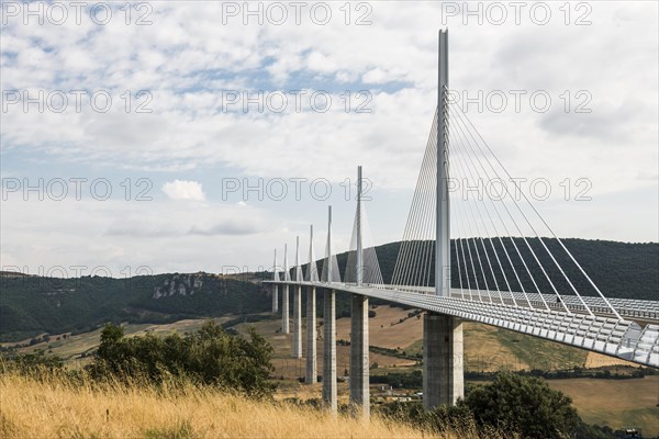
M 355 413 L 370 416 L 368 297 L 353 294 L 350 317 L 350 404 Z

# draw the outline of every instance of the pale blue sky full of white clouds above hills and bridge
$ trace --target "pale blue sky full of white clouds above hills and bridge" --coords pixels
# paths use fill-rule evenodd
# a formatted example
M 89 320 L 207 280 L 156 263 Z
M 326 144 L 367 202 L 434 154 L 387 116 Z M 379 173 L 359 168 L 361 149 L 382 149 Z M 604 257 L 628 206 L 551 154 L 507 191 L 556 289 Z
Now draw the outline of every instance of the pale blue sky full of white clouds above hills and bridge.
M 512 3 L 3 1 L 2 267 L 255 269 L 310 224 L 322 255 L 330 204 L 344 250 L 357 165 L 400 239 L 442 27 L 455 105 L 559 236 L 657 241 L 657 3 Z

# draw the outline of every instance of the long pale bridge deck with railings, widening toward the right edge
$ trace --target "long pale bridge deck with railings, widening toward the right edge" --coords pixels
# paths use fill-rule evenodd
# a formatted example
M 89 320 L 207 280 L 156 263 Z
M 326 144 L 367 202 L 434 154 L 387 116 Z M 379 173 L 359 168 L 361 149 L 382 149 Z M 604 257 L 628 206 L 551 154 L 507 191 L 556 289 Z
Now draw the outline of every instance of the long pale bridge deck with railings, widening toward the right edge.
M 434 289 L 423 286 L 400 286 L 398 289 L 392 288 L 392 285 L 357 286 L 338 282 L 291 281 L 265 281 L 265 283 L 316 286 L 377 297 L 659 368 L 659 322 L 655 324 L 659 314 L 659 303 L 654 301 L 610 300 L 621 315 L 633 316 L 634 313 L 640 313 L 644 318 L 652 320 L 645 328 L 641 328 L 635 322 L 612 317 L 613 313 L 605 306 L 602 309 L 595 306 L 595 309 L 593 309 L 593 312 L 602 312 L 603 315 L 592 316 L 585 314 L 583 305 L 577 296 L 573 301 L 565 301 L 570 309 L 570 313 L 568 313 L 556 301 L 551 303 L 551 309 L 529 307 L 528 303 L 524 302 L 523 295 L 517 299 L 517 293 L 513 293 L 518 304 L 518 306 L 515 306 L 510 293 L 507 293 L 507 296 L 504 293 L 503 301 L 501 301 L 498 292 L 490 292 L 492 296 L 492 302 L 490 302 L 487 294 L 483 294 L 485 292 L 482 291 L 480 296 L 478 294 L 473 296 L 472 294 L 472 297 L 463 299 L 460 290 L 453 290 L 453 297 L 442 297 L 432 294 Z M 492 293 L 496 294 L 496 299 Z M 543 304 L 539 294 L 529 294 L 529 299 L 530 296 L 533 296 L 532 304 L 534 299 L 540 305 Z M 544 296 L 549 303 L 548 299 L 554 297 L 549 294 Z M 597 305 L 600 303 L 595 301 L 596 299 L 599 297 L 590 297 L 589 300 L 593 300 L 593 304 Z M 648 302 L 647 307 L 644 302 Z M 524 303 L 526 307 L 523 306 Z M 604 304 L 604 302 L 602 301 L 601 304 Z M 533 304 L 533 306 L 537 306 L 537 304 Z M 589 306 L 591 306 L 590 303 Z M 611 316 L 605 315 L 606 312 Z

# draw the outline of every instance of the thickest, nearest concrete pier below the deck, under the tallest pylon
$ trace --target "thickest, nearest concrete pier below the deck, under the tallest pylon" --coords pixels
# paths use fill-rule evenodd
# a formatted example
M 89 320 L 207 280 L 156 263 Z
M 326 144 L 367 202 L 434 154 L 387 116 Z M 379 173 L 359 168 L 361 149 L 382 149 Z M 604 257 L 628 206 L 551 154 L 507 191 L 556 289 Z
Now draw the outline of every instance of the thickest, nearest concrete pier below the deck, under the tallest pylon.
M 455 405 L 465 396 L 462 322 L 426 313 L 423 319 L 423 406 Z

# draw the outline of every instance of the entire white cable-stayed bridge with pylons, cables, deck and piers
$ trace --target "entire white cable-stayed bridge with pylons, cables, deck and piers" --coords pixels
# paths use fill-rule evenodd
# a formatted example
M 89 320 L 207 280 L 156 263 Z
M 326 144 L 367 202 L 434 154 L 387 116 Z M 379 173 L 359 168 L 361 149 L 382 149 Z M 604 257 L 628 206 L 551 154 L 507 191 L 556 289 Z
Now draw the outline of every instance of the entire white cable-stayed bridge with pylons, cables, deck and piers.
M 350 402 L 369 414 L 368 300 L 426 311 L 423 329 L 425 407 L 463 395 L 462 322 L 480 322 L 659 367 L 659 301 L 606 297 L 554 233 L 466 113 L 448 99 L 448 35 L 439 32 L 438 104 L 391 279 L 384 279 L 361 198 L 347 266 L 332 243 L 328 209 L 325 255 L 316 264 L 313 226 L 306 272 L 297 238 L 292 272 L 275 252 L 272 312 L 282 290 L 282 333 L 302 358 L 302 289 L 306 290 L 306 382 L 316 381 L 316 289 L 324 294 L 323 399 L 336 410 L 335 292 L 351 294 Z M 457 191 L 457 188 L 466 188 Z M 483 188 L 487 190 L 483 191 Z M 487 192 L 487 193 L 485 193 Z

